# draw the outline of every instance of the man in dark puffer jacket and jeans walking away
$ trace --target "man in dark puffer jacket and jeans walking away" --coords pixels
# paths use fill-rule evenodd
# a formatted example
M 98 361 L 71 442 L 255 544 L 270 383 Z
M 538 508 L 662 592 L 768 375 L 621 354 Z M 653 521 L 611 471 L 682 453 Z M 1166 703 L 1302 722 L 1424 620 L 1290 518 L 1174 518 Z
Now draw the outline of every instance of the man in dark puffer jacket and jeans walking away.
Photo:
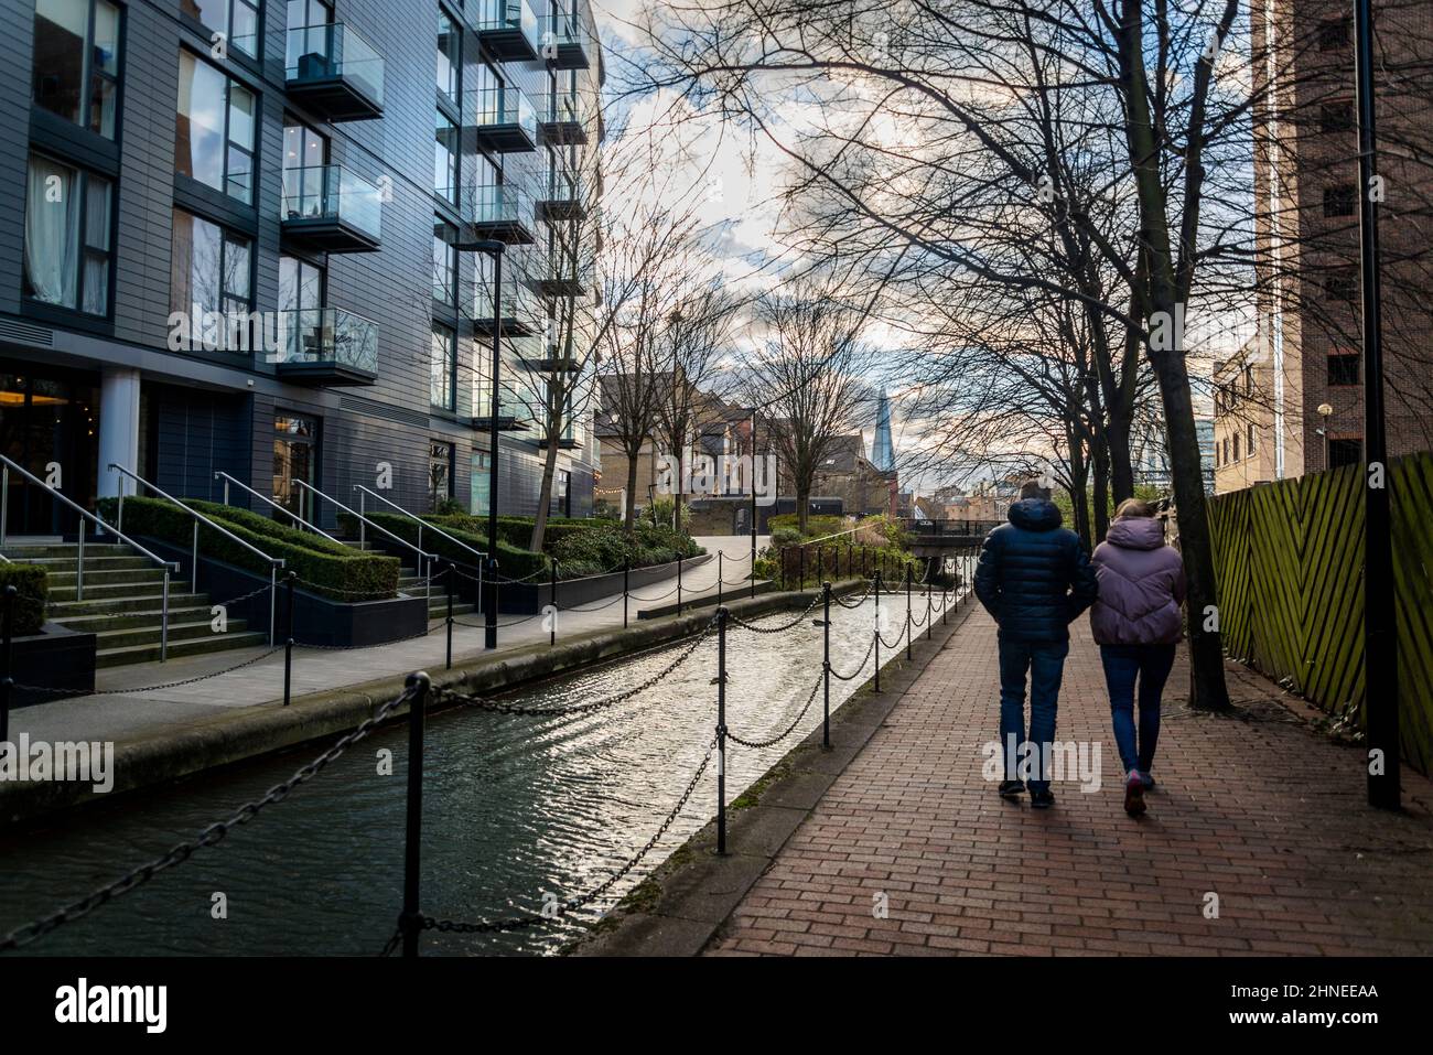
M 1020 487 L 1010 523 L 992 530 L 976 565 L 976 596 L 1000 628 L 1000 794 L 1025 790 L 1017 761 L 1029 751 L 1030 806 L 1055 804 L 1046 770 L 1055 741 L 1055 705 L 1069 624 L 1095 602 L 1095 572 L 1075 532 L 1060 528 L 1050 492 L 1035 480 Z M 1030 738 L 1025 738 L 1025 675 L 1030 675 Z

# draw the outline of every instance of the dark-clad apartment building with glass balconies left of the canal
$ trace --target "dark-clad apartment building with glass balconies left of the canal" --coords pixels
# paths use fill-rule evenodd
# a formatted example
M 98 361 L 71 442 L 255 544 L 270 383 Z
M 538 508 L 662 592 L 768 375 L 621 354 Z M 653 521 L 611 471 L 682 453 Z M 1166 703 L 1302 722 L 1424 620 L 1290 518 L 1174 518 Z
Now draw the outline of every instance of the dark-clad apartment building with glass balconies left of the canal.
M 588 0 L 0 0 L 0 453 L 86 509 L 115 463 L 483 513 L 496 337 L 499 510 L 549 440 L 590 510 Z

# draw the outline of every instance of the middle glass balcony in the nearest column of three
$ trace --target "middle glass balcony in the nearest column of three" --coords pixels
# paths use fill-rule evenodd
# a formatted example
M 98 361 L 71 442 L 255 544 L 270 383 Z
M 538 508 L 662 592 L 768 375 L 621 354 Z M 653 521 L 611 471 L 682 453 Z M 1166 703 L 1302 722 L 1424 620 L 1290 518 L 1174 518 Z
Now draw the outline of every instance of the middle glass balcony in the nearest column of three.
M 342 165 L 284 169 L 285 237 L 325 252 L 368 252 L 381 244 L 378 188 Z

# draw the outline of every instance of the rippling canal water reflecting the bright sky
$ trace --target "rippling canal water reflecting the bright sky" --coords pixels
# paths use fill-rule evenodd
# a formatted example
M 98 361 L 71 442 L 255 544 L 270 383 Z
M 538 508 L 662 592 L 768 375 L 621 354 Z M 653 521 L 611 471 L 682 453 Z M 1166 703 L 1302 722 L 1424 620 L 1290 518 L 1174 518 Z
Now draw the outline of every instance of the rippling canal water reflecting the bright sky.
M 886 636 L 904 598 L 883 602 Z M 866 655 L 874 605 L 833 605 L 831 661 Z M 917 598 L 917 618 L 924 603 Z M 762 616 L 762 625 L 795 614 Z M 728 728 L 765 740 L 791 724 L 821 671 L 815 609 L 784 634 L 728 635 Z M 939 616 L 936 616 L 939 619 Z M 567 707 L 651 677 L 678 645 L 509 698 Z M 883 649 L 884 651 L 884 649 Z M 866 674 L 870 674 L 870 664 Z M 652 837 L 696 771 L 716 714 L 712 635 L 674 674 L 632 701 L 583 715 L 535 718 L 479 708 L 431 717 L 424 753 L 423 910 L 454 920 L 540 912 L 606 880 Z M 856 682 L 831 679 L 835 708 Z M 821 698 L 778 745 L 728 747 L 728 800 L 821 721 Z M 156 857 L 269 787 L 321 748 L 245 763 L 136 793 L 54 824 L 0 834 L 0 933 L 47 915 Z M 391 751 L 393 773 L 378 757 Z M 374 955 L 401 903 L 406 725 L 383 730 L 314 781 L 235 829 L 214 849 L 67 923 L 36 955 Z M 424 955 L 553 953 L 598 919 L 715 814 L 716 765 L 642 864 L 582 915 L 542 927 L 423 936 Z M 224 894 L 226 919 L 215 919 Z

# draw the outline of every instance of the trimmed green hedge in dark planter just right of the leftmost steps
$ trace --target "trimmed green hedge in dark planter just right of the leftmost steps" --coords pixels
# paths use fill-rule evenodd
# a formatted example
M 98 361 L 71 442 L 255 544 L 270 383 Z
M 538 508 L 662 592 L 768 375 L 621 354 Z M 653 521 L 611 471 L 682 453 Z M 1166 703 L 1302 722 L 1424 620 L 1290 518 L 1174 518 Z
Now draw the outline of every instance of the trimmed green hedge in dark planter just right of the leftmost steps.
M 100 499 L 100 516 L 110 523 L 118 515 L 118 499 Z M 285 528 L 257 513 L 221 506 L 215 502 L 186 502 L 219 523 L 235 538 L 284 560 L 285 572 L 295 572 L 308 589 L 353 601 L 358 596 L 391 598 L 398 591 L 398 559 L 363 553 L 334 543 L 321 535 Z M 163 499 L 126 497 L 125 533 L 148 535 L 188 550 L 193 540 L 193 517 Z M 199 553 L 226 565 L 267 578 L 268 565 L 244 546 L 199 525 Z

